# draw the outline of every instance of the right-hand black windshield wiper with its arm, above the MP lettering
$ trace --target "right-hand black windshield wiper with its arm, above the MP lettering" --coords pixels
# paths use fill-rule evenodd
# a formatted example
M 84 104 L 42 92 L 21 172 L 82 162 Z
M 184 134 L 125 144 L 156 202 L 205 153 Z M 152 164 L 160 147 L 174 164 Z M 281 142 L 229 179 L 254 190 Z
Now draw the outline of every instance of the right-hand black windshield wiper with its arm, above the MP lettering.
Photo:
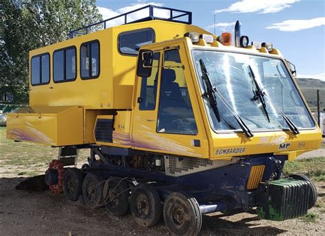
M 253 73 L 252 67 L 250 65 L 248 65 L 248 68 L 250 68 L 250 73 L 252 75 L 252 79 L 253 79 L 253 81 L 255 83 L 255 86 L 256 86 L 256 91 L 254 92 L 255 96 L 254 96 L 253 100 L 260 99 L 260 101 L 261 101 L 261 103 L 263 105 L 265 114 L 267 116 L 267 119 L 269 120 L 269 114 L 267 113 L 264 97 L 267 99 L 267 101 L 269 101 L 269 103 L 272 104 L 272 106 L 278 111 L 278 113 L 281 114 L 282 118 L 285 120 L 285 122 L 287 122 L 287 124 L 288 124 L 289 128 L 291 129 L 292 133 L 294 133 L 294 134 L 300 133 L 299 130 L 298 130 L 298 127 L 296 126 L 296 124 L 293 123 L 293 121 L 290 120 L 290 118 L 285 114 L 285 112 L 282 112 L 282 110 L 261 89 L 261 86 L 259 86 L 258 81 L 256 81 L 256 77 L 255 77 L 255 75 Z

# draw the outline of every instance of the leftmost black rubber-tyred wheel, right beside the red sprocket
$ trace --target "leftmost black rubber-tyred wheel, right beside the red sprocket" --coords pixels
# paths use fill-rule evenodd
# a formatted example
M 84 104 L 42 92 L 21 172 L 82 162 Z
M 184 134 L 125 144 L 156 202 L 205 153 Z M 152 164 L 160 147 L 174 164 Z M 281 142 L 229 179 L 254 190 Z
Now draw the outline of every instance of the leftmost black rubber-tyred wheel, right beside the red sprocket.
M 76 201 L 82 194 L 82 181 L 84 177 L 77 168 L 67 168 L 63 176 L 63 192 L 68 200 Z

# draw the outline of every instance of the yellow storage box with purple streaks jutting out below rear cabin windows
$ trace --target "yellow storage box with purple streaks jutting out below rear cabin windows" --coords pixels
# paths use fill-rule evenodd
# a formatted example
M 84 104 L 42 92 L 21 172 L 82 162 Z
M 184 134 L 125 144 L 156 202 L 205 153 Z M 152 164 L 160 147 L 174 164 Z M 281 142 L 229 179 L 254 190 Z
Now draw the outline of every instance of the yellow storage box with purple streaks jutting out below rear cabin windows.
M 80 144 L 82 107 L 25 107 L 8 114 L 7 136 L 12 140 L 51 146 Z

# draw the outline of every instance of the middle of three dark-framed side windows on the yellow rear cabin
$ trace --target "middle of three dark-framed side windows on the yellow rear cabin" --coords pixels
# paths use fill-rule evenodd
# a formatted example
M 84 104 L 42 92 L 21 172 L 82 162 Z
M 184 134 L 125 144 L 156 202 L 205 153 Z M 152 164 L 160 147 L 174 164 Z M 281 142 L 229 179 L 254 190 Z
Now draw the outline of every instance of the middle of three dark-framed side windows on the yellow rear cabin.
M 73 81 L 76 77 L 75 47 L 60 49 L 53 53 L 53 81 Z

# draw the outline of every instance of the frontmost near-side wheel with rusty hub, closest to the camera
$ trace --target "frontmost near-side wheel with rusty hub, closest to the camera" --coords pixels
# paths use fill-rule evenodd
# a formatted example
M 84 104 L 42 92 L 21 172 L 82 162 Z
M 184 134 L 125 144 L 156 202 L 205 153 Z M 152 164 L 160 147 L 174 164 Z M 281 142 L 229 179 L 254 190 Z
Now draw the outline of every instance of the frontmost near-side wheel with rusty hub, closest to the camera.
M 197 235 L 202 226 L 202 214 L 195 198 L 179 192 L 167 196 L 163 215 L 171 235 Z

